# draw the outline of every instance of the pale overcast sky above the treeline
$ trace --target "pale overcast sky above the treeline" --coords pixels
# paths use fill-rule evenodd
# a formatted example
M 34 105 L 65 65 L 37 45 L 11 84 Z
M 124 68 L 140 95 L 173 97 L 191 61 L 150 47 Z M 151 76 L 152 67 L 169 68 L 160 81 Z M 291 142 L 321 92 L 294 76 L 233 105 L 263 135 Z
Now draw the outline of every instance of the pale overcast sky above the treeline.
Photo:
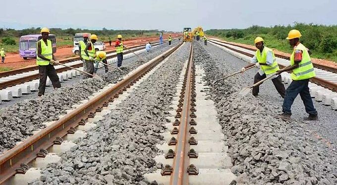
M 0 0 L 0 27 L 181 31 L 337 24 L 337 0 Z

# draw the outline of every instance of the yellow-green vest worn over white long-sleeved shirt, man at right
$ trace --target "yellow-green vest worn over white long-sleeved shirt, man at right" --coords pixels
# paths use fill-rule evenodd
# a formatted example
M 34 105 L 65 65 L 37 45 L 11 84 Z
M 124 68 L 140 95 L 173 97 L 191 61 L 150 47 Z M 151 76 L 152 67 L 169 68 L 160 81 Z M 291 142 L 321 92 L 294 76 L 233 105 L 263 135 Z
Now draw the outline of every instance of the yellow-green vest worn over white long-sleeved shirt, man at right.
M 267 53 L 272 52 L 273 54 L 273 64 L 267 65 Z M 265 74 L 273 74 L 280 70 L 279 64 L 276 61 L 275 54 L 272 49 L 264 46 L 262 53 L 260 52 L 260 49 L 256 50 L 255 56 L 257 61 L 259 62 L 261 70 L 265 72 Z

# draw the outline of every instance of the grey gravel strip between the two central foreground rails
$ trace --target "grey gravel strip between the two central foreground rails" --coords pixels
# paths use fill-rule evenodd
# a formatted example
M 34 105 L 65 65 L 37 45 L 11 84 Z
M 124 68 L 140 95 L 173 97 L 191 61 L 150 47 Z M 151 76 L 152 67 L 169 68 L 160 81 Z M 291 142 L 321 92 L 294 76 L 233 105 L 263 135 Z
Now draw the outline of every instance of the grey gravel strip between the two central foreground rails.
M 43 170 L 34 185 L 147 185 L 143 175 L 159 168 L 153 159 L 163 142 L 175 85 L 189 45 L 184 44 L 138 88 L 87 132 L 61 162 Z

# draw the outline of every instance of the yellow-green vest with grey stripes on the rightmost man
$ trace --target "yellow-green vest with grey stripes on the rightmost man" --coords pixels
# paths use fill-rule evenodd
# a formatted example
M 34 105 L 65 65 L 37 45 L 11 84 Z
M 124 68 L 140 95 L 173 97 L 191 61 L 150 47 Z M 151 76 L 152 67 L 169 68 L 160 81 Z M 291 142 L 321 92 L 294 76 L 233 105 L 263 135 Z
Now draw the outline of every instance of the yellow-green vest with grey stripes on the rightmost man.
M 295 64 L 294 56 L 295 56 L 295 50 L 301 50 L 302 51 L 302 61 L 298 64 L 298 68 L 295 68 L 292 70 L 291 73 L 291 79 L 293 80 L 301 80 L 301 79 L 308 79 L 316 76 L 314 71 L 314 66 L 311 63 L 311 58 L 308 53 L 307 48 L 299 43 L 293 50 L 291 56 L 290 56 L 290 65 L 293 66 Z

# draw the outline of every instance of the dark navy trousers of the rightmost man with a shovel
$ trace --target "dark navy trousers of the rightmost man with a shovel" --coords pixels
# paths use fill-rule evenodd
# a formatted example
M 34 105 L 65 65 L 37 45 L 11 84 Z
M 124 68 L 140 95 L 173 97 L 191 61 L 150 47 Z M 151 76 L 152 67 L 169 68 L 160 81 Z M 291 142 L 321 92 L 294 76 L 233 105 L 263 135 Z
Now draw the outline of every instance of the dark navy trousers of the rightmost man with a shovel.
M 302 80 L 292 80 L 289 87 L 286 89 L 285 98 L 283 101 L 283 112 L 291 114 L 291 106 L 294 102 L 295 98 L 299 94 L 305 106 L 305 111 L 312 115 L 317 115 L 317 111 L 314 108 L 314 104 L 312 103 L 312 99 L 309 91 L 309 79 Z

